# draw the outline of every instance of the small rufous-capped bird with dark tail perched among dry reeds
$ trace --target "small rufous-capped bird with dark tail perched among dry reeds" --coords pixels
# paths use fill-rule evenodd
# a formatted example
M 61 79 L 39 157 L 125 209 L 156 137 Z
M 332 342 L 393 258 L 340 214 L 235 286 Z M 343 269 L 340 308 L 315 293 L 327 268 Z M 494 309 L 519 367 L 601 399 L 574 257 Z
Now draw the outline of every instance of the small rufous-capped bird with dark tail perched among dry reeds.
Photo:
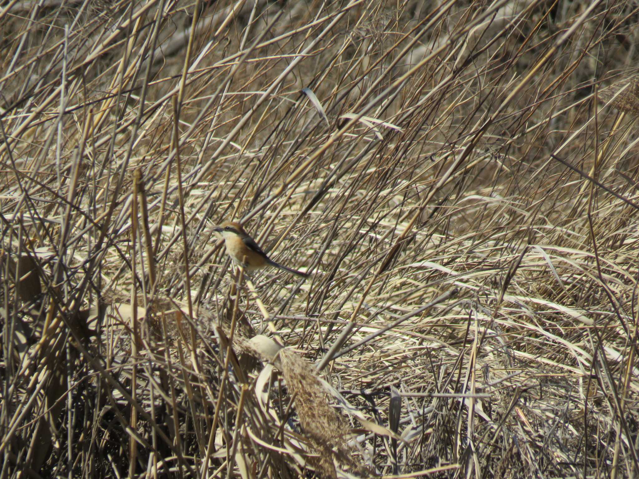
M 302 271 L 293 270 L 288 266 L 279 264 L 270 259 L 258 243 L 244 231 L 242 225 L 235 221 L 225 221 L 219 226 L 213 228 L 213 231 L 217 232 L 224 239 L 224 245 L 226 246 L 226 252 L 236 264 L 243 266 L 247 271 L 261 270 L 266 266 L 275 266 L 280 270 L 288 271 L 294 275 L 301 276 L 302 278 L 308 278 L 308 273 L 302 273 Z

